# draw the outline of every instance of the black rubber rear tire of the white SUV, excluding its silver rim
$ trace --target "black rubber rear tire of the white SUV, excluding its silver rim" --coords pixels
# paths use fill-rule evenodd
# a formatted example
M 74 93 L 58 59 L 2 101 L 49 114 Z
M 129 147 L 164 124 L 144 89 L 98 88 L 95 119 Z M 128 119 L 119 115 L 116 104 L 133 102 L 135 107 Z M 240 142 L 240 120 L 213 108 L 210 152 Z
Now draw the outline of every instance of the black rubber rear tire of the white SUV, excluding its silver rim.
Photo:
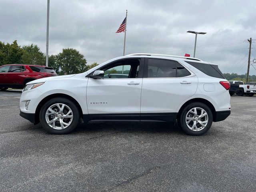
M 208 124 L 201 131 L 192 131 L 186 125 L 186 114 L 188 113 L 189 110 L 191 110 L 192 108 L 195 108 L 195 107 L 200 107 L 200 108 L 204 109 L 208 114 Z M 195 102 L 195 103 L 189 104 L 188 106 L 186 106 L 183 109 L 183 111 L 180 115 L 179 121 L 180 121 L 179 124 L 180 124 L 182 130 L 184 130 L 184 132 L 186 132 L 189 135 L 200 136 L 200 135 L 208 132 L 208 130 L 211 128 L 212 121 L 213 121 L 213 115 L 212 115 L 211 109 L 206 104 L 201 103 L 201 102 Z

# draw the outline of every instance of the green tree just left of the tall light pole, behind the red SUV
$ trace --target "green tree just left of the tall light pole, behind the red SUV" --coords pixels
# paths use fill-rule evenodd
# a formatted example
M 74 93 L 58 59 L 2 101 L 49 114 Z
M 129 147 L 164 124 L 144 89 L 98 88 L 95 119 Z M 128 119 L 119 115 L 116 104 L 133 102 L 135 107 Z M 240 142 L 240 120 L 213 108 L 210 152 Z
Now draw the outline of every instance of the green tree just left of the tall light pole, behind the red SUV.
M 45 58 L 43 52 L 37 45 L 24 45 L 22 46 L 24 54 L 22 55 L 22 63 L 33 65 L 44 65 Z

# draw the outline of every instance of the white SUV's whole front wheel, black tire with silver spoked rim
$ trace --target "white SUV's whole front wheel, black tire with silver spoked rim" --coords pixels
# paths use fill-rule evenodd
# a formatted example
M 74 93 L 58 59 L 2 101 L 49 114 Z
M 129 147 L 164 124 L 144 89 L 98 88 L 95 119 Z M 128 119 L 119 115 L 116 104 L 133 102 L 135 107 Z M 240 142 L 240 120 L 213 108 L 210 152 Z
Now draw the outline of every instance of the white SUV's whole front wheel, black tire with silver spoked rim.
M 64 108 L 63 112 L 61 112 L 62 107 Z M 49 109 L 52 109 L 52 112 Z M 70 114 L 68 114 L 69 111 L 71 111 Z M 46 115 L 46 112 L 48 112 L 48 115 Z M 69 117 L 64 118 L 67 114 Z M 71 115 L 72 118 L 70 117 Z M 80 120 L 80 114 L 74 102 L 66 98 L 58 97 L 50 99 L 42 106 L 39 118 L 43 128 L 47 132 L 52 134 L 67 134 L 76 128 Z M 48 124 L 47 121 L 52 121 L 52 123 Z

